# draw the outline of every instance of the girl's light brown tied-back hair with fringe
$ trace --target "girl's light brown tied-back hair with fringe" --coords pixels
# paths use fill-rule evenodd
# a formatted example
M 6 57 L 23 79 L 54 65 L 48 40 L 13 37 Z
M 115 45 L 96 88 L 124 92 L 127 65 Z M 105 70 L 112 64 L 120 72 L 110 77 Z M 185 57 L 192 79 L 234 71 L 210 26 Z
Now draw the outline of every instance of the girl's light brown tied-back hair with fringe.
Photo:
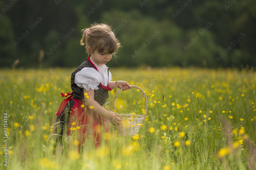
M 91 24 L 90 28 L 81 30 L 83 37 L 80 41 L 81 45 L 90 46 L 91 53 L 96 50 L 98 53 L 114 54 L 121 47 L 120 42 L 116 39 L 111 27 L 107 24 Z M 86 50 L 89 57 L 91 53 Z M 116 56 L 115 56 L 116 57 Z

